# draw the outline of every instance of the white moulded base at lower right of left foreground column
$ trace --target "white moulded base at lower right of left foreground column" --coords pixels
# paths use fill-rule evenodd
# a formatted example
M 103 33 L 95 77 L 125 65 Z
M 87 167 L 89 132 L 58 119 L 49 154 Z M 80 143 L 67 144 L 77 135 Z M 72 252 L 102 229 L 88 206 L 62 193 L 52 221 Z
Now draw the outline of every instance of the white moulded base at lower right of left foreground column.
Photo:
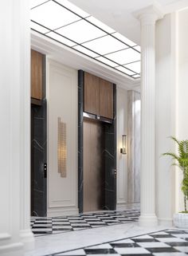
M 34 236 L 33 232 L 28 230 L 20 230 L 21 241 L 24 244 L 24 250 L 33 250 L 34 249 Z

